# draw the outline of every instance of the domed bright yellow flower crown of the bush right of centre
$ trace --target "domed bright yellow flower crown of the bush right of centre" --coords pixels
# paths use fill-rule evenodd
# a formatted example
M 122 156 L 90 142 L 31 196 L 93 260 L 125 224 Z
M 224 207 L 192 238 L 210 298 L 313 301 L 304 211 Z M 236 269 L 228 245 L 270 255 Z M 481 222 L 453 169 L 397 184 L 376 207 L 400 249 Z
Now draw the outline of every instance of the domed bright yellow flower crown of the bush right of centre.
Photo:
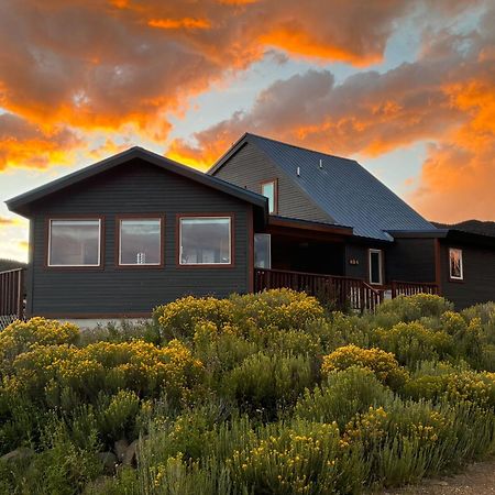
M 362 349 L 352 344 L 323 356 L 321 372 L 328 374 L 333 370 L 346 370 L 350 366 L 367 367 L 382 383 L 393 388 L 400 387 L 408 376 L 391 352 L 376 348 Z

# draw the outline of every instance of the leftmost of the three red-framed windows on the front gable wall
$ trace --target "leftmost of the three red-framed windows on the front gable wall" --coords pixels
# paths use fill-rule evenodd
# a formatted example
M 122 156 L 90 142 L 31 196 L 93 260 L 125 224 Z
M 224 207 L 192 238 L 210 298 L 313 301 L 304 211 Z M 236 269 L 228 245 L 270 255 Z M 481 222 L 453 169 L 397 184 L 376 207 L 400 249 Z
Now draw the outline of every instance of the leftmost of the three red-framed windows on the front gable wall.
M 100 266 L 101 220 L 50 220 L 48 266 Z

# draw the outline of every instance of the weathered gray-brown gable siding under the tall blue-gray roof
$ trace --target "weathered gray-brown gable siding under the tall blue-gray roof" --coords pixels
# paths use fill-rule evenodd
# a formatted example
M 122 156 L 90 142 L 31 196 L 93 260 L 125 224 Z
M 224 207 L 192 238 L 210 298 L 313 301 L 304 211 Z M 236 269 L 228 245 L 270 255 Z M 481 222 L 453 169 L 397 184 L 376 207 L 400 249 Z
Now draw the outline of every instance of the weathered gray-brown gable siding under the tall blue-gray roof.
M 261 194 L 261 183 L 278 179 L 278 215 L 302 220 L 332 222 L 294 182 L 255 145 L 248 143 L 216 174 L 217 177 Z

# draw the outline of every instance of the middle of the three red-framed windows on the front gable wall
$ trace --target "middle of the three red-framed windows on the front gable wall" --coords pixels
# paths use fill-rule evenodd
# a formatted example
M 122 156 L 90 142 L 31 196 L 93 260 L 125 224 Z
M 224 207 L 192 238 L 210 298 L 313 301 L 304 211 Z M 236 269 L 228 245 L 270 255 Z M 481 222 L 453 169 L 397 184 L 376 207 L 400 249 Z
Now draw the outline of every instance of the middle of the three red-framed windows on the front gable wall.
M 162 219 L 119 220 L 119 265 L 162 264 Z

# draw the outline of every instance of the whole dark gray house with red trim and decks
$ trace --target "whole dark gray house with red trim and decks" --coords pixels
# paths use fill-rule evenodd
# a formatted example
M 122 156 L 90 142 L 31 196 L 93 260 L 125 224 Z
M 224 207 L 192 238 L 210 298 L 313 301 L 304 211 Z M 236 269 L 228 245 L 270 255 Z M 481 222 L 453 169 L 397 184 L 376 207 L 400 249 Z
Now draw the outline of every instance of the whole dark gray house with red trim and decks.
M 132 147 L 7 205 L 30 220 L 28 316 L 90 324 L 284 286 L 360 310 L 495 299 L 495 238 L 436 229 L 354 161 L 253 134 L 208 174 Z M 0 274 L 0 317 L 20 309 L 16 280 Z

